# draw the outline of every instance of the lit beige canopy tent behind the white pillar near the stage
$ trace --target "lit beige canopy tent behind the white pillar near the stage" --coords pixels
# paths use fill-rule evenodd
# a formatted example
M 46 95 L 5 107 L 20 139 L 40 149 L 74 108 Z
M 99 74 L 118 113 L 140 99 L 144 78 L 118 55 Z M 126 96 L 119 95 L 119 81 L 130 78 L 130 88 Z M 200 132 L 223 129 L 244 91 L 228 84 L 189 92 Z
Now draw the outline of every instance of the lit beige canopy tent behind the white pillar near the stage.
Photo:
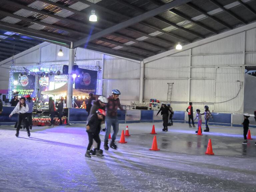
M 59 88 L 51 90 L 51 91 L 42 91 L 41 94 L 44 94 L 44 95 L 67 95 L 67 90 L 68 90 L 68 83 L 66 83 L 62 87 L 59 87 Z M 73 96 L 89 97 L 89 94 L 78 91 L 77 89 L 73 88 Z

